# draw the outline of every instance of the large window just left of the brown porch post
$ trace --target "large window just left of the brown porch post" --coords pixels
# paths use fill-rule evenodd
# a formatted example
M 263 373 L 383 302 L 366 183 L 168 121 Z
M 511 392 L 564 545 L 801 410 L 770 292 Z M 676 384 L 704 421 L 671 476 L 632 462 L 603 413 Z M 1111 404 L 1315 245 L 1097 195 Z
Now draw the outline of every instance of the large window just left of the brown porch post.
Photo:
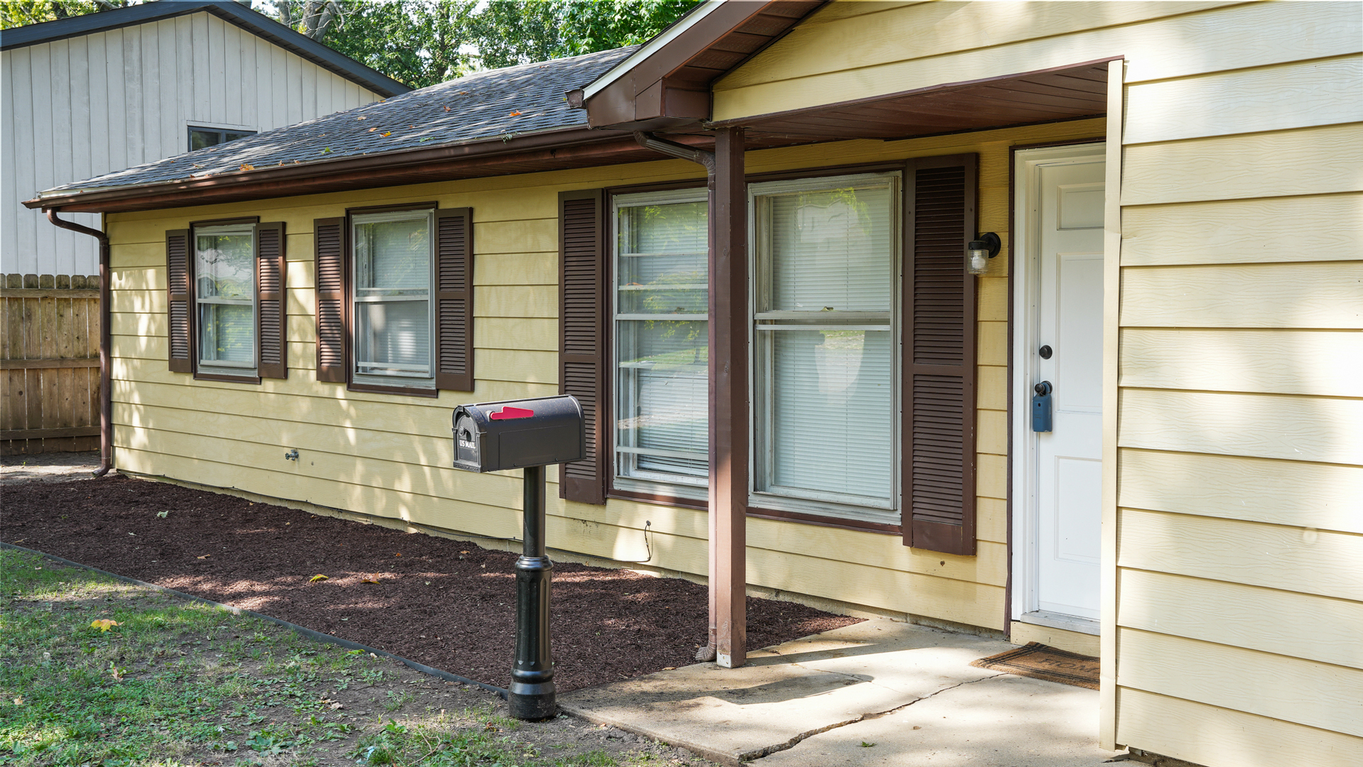
M 616 486 L 702 492 L 709 473 L 706 193 L 622 195 L 612 218 Z

